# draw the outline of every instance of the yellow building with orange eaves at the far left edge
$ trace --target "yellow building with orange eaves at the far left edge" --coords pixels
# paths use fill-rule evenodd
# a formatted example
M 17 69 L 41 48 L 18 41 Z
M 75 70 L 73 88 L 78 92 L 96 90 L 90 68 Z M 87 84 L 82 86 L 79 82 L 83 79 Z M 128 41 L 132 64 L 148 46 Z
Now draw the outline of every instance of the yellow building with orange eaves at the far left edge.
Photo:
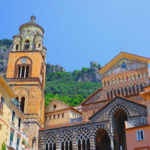
M 0 76 L 0 148 L 3 143 L 8 145 L 11 99 L 13 97 L 15 97 L 13 91 Z

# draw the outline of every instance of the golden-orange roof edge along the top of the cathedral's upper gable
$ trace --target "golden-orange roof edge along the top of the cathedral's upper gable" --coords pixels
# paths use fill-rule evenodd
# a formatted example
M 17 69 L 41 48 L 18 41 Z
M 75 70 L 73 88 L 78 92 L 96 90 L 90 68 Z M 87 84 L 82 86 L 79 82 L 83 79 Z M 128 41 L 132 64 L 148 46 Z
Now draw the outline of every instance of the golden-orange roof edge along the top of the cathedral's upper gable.
M 119 61 L 121 58 L 130 58 L 130 59 L 136 59 L 142 62 L 150 63 L 150 58 L 138 56 L 126 52 L 120 52 L 116 57 L 114 57 L 111 61 L 109 61 L 103 68 L 99 70 L 101 74 L 104 74 L 109 68 L 111 68 L 117 61 Z

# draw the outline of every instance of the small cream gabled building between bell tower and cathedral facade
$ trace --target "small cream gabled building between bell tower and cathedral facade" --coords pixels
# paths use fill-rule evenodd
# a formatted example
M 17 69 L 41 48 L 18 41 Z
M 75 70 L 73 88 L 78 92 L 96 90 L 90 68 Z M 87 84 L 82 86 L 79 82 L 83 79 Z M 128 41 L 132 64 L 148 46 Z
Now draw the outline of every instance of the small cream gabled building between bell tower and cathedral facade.
M 81 120 L 81 112 L 77 109 L 54 99 L 45 109 L 45 128 L 67 125 Z

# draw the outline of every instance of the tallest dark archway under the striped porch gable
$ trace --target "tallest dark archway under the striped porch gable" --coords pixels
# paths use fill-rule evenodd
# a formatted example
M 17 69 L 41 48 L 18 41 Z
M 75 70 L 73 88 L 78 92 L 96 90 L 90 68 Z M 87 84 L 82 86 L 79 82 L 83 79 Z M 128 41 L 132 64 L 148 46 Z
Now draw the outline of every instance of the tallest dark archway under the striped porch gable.
M 125 121 L 127 120 L 127 114 L 123 109 L 118 109 L 114 113 L 113 119 L 115 125 L 115 138 L 114 138 L 115 149 L 127 150 L 126 134 L 125 134 Z

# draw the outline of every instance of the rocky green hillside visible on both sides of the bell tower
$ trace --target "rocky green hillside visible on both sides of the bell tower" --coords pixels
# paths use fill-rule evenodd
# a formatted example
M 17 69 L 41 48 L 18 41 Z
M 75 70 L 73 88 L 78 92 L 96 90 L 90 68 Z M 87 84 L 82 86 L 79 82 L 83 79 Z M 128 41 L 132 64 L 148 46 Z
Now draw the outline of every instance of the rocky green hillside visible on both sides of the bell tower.
M 0 73 L 4 76 L 11 44 L 11 40 L 0 40 Z M 56 98 L 71 106 L 79 105 L 101 87 L 100 68 L 100 64 L 91 62 L 90 68 L 66 72 L 60 65 L 46 64 L 45 104 Z

